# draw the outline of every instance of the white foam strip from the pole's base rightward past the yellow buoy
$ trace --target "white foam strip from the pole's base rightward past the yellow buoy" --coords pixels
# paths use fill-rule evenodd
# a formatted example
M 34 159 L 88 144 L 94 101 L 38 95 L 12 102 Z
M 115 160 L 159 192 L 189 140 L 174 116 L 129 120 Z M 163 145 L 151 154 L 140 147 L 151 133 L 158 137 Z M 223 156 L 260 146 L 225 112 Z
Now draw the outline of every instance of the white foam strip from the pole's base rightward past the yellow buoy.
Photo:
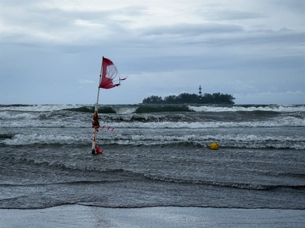
M 99 135 L 98 140 L 103 144 L 120 145 L 166 145 L 181 142 L 193 143 L 207 147 L 211 142 L 219 142 L 221 147 L 233 148 L 289 148 L 305 149 L 305 137 L 302 136 L 268 136 L 244 134 L 216 134 L 216 135 Z

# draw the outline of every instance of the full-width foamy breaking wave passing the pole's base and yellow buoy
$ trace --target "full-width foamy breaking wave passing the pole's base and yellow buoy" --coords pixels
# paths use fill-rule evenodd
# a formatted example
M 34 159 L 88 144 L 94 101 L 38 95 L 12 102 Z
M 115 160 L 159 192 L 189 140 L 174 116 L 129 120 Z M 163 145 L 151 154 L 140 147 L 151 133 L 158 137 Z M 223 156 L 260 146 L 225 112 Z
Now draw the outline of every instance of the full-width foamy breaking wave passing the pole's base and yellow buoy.
M 208 147 L 211 142 L 219 142 L 222 148 L 282 148 L 305 149 L 305 137 L 296 136 L 262 136 L 262 135 L 114 135 L 99 134 L 97 136 L 103 145 L 179 145 L 186 147 Z M 67 144 L 86 145 L 90 137 L 66 135 L 16 134 L 4 135 L 1 143 L 4 145 L 34 145 L 34 144 Z

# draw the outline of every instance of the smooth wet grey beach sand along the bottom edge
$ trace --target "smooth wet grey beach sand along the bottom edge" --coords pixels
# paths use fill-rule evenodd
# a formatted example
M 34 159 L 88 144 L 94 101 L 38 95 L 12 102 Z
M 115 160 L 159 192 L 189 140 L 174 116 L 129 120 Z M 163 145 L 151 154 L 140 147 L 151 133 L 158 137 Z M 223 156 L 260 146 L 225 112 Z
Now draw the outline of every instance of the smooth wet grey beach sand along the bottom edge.
M 1 228 L 304 227 L 305 210 L 198 207 L 103 208 L 65 205 L 1 209 Z

